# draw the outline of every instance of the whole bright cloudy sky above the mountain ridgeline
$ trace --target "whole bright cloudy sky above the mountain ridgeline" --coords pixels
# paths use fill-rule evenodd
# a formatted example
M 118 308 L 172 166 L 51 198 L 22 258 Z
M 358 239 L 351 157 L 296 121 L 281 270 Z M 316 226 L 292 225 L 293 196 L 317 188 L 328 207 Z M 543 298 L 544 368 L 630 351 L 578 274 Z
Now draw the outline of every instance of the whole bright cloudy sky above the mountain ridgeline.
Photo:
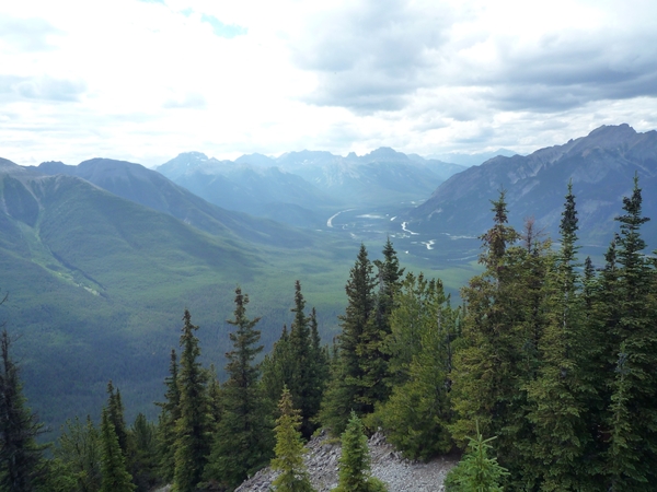
M 0 3 L 0 156 L 420 155 L 657 129 L 655 0 Z

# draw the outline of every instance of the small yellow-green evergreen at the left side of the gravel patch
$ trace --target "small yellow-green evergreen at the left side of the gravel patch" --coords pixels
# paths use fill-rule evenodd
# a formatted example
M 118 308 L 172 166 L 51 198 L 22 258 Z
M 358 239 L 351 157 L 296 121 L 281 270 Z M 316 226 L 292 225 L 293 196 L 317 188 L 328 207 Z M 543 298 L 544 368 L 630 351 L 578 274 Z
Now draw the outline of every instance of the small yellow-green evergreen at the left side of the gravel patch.
M 280 473 L 272 482 L 278 492 L 311 492 L 310 478 L 303 464 L 303 440 L 301 432 L 301 417 L 299 410 L 292 405 L 292 397 L 284 388 L 278 403 L 280 417 L 276 421 L 276 458 L 272 460 L 272 469 Z

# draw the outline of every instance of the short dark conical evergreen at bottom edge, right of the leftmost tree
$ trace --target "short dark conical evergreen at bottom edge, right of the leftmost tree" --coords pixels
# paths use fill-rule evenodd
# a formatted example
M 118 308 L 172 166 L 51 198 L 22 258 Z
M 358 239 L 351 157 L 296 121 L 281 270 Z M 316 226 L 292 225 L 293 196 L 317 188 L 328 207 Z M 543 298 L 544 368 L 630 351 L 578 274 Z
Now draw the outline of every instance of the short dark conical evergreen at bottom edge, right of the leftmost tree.
M 110 419 L 110 412 L 103 408 L 101 421 L 102 442 L 102 482 L 101 492 L 132 492 L 132 477 L 126 469 L 126 458 L 118 445 L 118 436 Z

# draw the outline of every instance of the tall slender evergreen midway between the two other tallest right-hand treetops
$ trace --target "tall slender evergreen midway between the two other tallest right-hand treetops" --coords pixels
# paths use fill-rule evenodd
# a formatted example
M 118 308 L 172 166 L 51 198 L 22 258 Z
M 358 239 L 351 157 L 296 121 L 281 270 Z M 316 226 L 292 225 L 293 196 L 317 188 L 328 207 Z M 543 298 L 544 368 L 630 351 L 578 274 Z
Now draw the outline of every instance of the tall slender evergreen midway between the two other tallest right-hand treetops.
M 562 214 L 561 249 L 549 273 L 549 321 L 540 339 L 541 365 L 529 382 L 529 421 L 534 425 L 532 472 L 542 490 L 586 490 L 592 470 L 585 468 L 590 442 L 587 401 L 592 388 L 583 373 L 587 359 L 577 274 L 577 211 L 573 185 Z

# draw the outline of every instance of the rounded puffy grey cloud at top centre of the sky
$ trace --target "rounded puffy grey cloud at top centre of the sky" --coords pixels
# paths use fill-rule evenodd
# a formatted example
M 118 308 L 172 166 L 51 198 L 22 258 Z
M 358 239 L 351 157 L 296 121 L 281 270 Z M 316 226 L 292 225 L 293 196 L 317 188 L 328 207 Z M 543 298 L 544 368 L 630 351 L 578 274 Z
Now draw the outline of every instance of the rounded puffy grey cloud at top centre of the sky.
M 422 16 L 393 0 L 354 5 L 312 23 L 309 39 L 292 48 L 296 65 L 319 75 L 308 102 L 356 113 L 400 109 L 431 71 L 448 15 Z

